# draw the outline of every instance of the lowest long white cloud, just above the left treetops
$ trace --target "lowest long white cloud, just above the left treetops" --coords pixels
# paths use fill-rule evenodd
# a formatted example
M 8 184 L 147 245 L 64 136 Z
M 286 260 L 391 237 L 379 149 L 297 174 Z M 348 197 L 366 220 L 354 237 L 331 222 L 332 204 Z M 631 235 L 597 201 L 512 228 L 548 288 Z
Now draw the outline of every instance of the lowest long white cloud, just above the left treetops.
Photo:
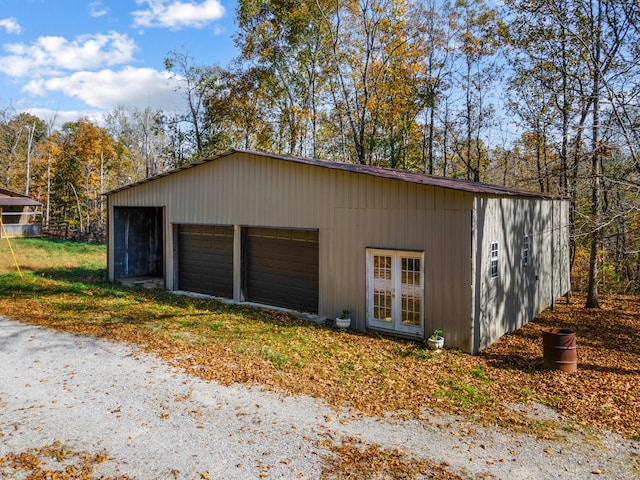
M 24 90 L 33 95 L 60 92 L 68 97 L 101 109 L 118 105 L 145 108 L 153 105 L 167 111 L 182 108 L 183 98 L 177 93 L 176 79 L 168 72 L 150 68 L 125 67 L 115 72 L 77 72 L 66 77 L 35 80 Z

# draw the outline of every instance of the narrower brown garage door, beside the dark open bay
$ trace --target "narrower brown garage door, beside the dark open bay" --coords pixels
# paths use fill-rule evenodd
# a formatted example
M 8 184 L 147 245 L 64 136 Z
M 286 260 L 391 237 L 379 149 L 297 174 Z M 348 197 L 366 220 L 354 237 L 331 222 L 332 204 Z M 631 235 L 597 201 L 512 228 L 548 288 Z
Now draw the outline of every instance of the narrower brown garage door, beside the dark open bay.
M 178 288 L 233 297 L 233 227 L 178 225 Z

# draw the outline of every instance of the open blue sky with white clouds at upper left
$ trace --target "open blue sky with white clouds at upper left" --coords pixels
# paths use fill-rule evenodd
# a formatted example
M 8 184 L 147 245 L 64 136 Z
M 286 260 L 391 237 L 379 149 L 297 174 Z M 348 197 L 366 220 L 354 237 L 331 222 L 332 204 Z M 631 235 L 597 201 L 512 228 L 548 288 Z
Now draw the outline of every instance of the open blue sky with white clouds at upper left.
M 0 106 L 56 123 L 118 105 L 183 109 L 171 50 L 226 65 L 236 0 L 0 0 Z

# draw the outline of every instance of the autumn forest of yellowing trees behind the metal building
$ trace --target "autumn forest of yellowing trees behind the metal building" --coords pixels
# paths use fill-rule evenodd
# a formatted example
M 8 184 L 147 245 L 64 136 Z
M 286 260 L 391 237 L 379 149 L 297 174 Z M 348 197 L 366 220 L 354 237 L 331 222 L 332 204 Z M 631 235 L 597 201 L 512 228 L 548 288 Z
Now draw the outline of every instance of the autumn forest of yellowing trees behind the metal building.
M 229 148 L 567 197 L 573 288 L 640 293 L 639 0 L 240 0 L 238 58 L 167 52 L 184 111 L 0 111 L 0 185 L 100 238 L 102 193 Z M 99 88 L 99 86 L 96 86 Z

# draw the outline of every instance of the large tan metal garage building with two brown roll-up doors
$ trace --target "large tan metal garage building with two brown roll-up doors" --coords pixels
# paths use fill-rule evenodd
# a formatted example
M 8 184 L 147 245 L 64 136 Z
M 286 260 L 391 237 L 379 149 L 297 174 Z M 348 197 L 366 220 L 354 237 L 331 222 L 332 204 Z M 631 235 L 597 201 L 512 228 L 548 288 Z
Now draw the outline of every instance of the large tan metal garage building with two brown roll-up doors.
M 569 204 L 403 170 L 231 150 L 108 192 L 108 277 L 476 353 L 569 285 Z

